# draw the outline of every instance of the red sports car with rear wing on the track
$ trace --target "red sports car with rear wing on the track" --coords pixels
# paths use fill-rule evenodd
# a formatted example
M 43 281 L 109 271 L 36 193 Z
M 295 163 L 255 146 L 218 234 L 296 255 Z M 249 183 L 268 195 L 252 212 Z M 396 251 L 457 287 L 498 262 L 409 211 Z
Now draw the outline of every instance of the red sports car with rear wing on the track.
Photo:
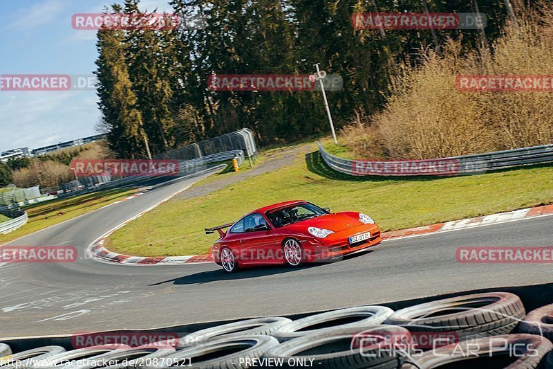
M 223 231 L 224 228 L 230 229 Z M 286 201 L 246 214 L 238 222 L 206 228 L 218 231 L 212 249 L 225 271 L 265 264 L 315 262 L 379 244 L 380 229 L 368 215 L 330 213 L 307 201 Z

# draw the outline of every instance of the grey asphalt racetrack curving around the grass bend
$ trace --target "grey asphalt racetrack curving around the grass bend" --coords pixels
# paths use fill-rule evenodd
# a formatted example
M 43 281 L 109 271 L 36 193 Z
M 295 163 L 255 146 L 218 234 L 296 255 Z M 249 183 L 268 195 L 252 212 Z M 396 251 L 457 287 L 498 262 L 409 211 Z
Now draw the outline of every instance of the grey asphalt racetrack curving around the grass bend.
M 552 246 L 553 216 L 392 240 L 368 253 L 299 269 L 229 275 L 216 264 L 135 266 L 86 258 L 86 247 L 97 237 L 206 175 L 157 183 L 144 195 L 11 242 L 75 246 L 79 259 L 0 264 L 0 338 L 316 312 L 553 280 L 551 264 L 456 260 L 458 246 Z M 175 222 L 185 224 L 186 215 Z

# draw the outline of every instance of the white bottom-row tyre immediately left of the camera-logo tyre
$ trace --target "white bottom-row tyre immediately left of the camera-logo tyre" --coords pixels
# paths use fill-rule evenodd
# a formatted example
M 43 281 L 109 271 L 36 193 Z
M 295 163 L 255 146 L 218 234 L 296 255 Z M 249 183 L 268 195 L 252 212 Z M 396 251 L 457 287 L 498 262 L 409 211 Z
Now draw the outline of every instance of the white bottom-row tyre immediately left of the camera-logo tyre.
M 263 357 L 279 344 L 272 336 L 233 336 L 216 339 L 170 354 L 163 361 L 144 368 L 249 368 L 254 360 Z M 249 363 L 249 365 L 248 365 Z

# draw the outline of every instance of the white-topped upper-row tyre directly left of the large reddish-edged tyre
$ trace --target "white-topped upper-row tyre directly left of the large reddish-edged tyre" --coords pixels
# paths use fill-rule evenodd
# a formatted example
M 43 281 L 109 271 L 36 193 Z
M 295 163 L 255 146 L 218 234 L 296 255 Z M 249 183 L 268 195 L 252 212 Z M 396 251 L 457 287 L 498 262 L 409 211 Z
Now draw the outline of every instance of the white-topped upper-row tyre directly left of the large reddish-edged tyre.
M 271 335 L 285 342 L 310 333 L 330 331 L 337 326 L 369 327 L 379 325 L 392 313 L 392 309 L 384 306 L 349 307 L 292 321 Z

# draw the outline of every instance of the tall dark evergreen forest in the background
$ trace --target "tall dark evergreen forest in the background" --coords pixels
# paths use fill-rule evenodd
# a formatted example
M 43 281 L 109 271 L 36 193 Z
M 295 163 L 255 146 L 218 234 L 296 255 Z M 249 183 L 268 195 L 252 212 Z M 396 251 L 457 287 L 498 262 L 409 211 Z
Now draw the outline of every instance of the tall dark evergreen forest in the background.
M 523 1 L 523 0 L 519 0 Z M 453 39 L 473 50 L 494 42 L 516 0 L 173 0 L 189 29 L 97 34 L 98 96 L 109 146 L 121 157 L 149 157 L 241 127 L 261 145 L 328 131 L 319 91 L 212 91 L 217 74 L 308 74 L 321 63 L 344 80 L 328 93 L 338 127 L 361 111 L 381 111 L 394 76 L 440 53 Z M 139 12 L 126 0 L 106 12 Z M 485 30 L 359 30 L 357 12 L 481 12 Z M 155 9 L 148 9 L 153 12 Z

